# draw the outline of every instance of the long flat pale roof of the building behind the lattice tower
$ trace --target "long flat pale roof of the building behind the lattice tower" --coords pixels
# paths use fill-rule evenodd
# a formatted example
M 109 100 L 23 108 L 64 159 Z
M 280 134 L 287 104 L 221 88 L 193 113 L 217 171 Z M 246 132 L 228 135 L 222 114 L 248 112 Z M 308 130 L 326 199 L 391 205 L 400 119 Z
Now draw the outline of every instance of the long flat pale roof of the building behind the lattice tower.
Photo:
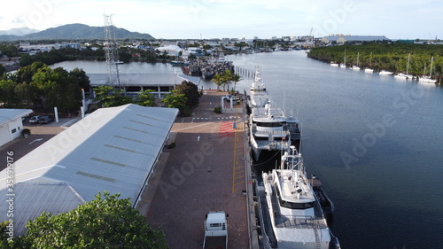
M 101 86 L 107 82 L 107 74 L 87 75 L 91 86 Z M 183 81 L 198 85 L 200 82 L 200 78 L 185 74 L 119 74 L 119 79 L 121 86 L 174 86 Z

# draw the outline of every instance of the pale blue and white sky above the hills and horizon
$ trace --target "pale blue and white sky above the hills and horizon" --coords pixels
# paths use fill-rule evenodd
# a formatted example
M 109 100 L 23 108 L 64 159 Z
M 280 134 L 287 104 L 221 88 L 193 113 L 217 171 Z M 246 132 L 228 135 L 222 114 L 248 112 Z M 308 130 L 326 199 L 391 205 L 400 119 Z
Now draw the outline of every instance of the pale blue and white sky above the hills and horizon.
M 12 0 L 0 30 L 71 23 L 116 27 L 155 38 L 253 38 L 330 34 L 443 39 L 441 0 Z

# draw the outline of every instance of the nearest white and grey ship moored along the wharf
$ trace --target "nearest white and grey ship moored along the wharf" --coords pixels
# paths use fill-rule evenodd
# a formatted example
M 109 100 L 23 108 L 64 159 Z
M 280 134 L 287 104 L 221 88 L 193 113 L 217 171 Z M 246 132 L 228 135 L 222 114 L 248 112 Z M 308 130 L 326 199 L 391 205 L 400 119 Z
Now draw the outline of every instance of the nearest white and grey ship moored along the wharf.
M 340 248 L 295 146 L 281 162 L 279 169 L 262 174 L 257 187 L 265 241 L 273 248 Z

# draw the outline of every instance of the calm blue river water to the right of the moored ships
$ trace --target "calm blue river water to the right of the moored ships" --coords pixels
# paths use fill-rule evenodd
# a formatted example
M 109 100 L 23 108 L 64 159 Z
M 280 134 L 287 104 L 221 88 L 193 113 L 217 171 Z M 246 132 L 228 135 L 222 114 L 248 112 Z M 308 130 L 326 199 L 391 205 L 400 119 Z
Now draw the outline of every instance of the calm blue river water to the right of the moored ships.
M 298 113 L 307 173 L 336 205 L 343 248 L 443 248 L 443 89 L 364 74 L 304 51 L 230 56 Z M 249 86 L 250 80 L 237 84 Z

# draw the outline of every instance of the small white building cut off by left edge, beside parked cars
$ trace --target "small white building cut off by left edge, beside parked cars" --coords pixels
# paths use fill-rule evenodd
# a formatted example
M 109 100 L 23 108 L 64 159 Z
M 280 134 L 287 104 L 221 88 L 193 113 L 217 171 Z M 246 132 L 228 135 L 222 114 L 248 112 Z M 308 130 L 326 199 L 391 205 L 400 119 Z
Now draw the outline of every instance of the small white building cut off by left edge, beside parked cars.
M 30 113 L 33 113 L 31 109 L 0 108 L 0 146 L 21 135 L 23 129 L 21 118 Z

